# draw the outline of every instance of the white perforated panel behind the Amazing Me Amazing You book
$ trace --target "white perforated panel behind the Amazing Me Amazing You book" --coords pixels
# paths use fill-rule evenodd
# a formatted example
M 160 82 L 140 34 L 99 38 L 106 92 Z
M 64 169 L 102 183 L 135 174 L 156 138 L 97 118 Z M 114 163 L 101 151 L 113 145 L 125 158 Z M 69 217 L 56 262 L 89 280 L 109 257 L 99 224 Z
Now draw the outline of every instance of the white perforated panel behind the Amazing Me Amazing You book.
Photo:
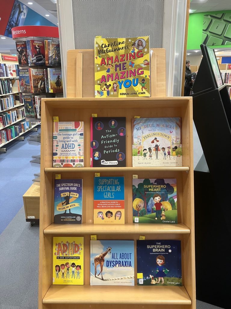
M 95 36 L 150 36 L 162 48 L 164 0 L 72 0 L 75 49 L 94 49 Z

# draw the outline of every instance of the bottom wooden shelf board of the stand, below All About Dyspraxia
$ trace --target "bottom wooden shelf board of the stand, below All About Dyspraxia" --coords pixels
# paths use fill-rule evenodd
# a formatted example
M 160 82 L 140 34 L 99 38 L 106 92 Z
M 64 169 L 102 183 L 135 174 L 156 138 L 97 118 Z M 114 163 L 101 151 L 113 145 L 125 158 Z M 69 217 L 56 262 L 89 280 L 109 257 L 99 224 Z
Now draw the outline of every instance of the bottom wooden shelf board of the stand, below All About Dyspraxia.
M 117 296 L 116 296 L 117 295 Z M 142 295 L 142 296 L 141 296 Z M 184 286 L 50 286 L 43 304 L 191 305 Z

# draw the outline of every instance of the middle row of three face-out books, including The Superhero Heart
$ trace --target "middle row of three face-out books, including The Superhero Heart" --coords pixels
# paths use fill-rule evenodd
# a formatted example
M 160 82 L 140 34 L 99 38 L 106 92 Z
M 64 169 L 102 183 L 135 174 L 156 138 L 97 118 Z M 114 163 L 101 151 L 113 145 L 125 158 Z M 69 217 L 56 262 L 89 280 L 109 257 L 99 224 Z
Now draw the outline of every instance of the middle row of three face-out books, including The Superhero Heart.
M 94 224 L 124 224 L 126 207 L 134 223 L 178 223 L 176 179 L 133 179 L 130 191 L 128 206 L 124 177 L 94 177 Z M 81 224 L 84 205 L 82 179 L 55 180 L 54 223 Z

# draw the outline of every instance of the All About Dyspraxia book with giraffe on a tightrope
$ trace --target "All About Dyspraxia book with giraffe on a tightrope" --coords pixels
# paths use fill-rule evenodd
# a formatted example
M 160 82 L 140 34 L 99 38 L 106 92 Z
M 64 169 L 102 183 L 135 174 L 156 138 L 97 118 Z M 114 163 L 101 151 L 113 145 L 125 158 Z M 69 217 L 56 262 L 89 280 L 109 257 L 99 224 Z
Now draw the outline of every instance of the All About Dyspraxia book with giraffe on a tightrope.
M 134 241 L 91 240 L 91 286 L 134 286 Z

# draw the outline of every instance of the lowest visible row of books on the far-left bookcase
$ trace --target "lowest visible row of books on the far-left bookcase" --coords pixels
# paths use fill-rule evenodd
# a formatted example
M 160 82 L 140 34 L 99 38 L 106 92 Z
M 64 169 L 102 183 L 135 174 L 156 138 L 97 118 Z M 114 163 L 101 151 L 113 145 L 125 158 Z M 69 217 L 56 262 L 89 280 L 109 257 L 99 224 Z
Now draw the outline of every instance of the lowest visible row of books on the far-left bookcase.
M 0 131 L 0 145 L 10 142 L 10 140 L 18 137 L 21 133 L 26 132 L 32 127 L 33 123 L 30 121 L 23 121 L 17 123 L 17 125 L 12 125 L 6 129 L 1 129 Z

